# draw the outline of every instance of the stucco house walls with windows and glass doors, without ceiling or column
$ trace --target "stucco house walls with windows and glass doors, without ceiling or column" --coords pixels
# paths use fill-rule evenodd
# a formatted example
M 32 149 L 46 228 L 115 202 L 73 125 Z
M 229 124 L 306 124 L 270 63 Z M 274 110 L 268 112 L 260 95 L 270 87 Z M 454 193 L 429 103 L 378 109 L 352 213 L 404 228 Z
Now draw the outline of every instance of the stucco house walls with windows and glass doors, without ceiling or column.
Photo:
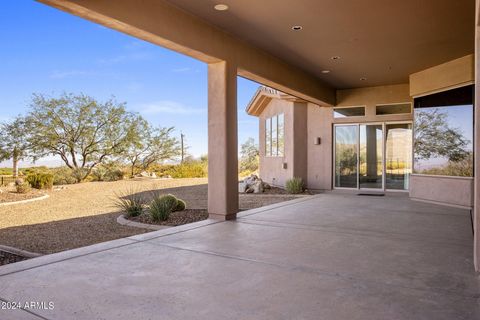
M 453 172 L 448 152 L 422 155 L 438 151 L 447 126 L 468 141 L 465 155 L 473 153 L 473 69 L 467 55 L 412 74 L 409 83 L 337 90 L 332 106 L 260 87 L 246 108 L 259 118 L 260 177 L 280 187 L 301 177 L 309 189 L 400 191 L 471 208 L 471 164 L 463 159 L 465 171 Z M 421 123 L 432 114 L 443 117 L 435 141 Z

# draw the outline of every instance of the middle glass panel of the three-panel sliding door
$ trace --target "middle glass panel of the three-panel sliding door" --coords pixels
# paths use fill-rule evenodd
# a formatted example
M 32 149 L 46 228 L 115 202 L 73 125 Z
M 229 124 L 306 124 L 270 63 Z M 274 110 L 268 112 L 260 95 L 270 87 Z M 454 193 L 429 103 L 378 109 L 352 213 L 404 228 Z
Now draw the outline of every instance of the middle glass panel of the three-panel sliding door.
M 383 188 L 382 125 L 360 125 L 360 188 Z

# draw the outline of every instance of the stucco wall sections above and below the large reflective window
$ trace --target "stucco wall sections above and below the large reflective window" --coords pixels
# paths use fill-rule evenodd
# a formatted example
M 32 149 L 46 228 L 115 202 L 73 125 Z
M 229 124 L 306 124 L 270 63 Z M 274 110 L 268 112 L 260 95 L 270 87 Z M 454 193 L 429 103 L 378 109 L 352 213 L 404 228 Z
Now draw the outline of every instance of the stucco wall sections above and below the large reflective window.
M 474 59 L 468 55 L 410 76 L 412 97 L 445 91 L 474 82 Z M 473 206 L 472 178 L 412 174 L 410 197 L 441 204 Z

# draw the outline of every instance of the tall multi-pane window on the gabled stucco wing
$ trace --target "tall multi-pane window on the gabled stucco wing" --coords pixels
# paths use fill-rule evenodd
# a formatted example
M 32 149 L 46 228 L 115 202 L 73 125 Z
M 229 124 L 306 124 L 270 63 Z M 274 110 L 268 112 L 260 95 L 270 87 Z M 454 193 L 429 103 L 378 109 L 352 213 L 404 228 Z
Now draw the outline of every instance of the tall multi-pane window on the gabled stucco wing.
M 283 113 L 265 120 L 265 155 L 283 157 L 285 154 L 285 116 Z

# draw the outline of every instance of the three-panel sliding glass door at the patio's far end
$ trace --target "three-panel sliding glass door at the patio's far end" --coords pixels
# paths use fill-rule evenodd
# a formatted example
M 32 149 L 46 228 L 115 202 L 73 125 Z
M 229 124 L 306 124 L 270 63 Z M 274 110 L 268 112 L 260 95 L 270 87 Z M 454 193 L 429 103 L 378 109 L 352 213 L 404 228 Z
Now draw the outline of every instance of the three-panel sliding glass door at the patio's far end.
M 411 123 L 335 125 L 335 188 L 408 190 Z

